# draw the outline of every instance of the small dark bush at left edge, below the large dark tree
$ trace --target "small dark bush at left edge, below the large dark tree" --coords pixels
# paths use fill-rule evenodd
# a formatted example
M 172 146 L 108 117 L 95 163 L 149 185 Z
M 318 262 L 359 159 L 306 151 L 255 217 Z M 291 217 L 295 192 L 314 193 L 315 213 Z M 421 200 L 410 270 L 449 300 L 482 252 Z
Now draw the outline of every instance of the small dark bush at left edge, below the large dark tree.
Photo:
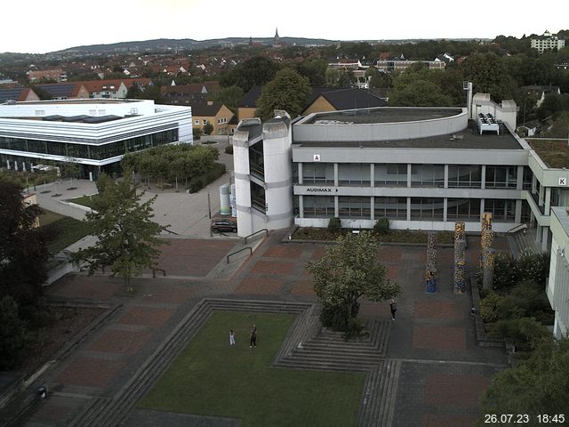
M 21 363 L 26 344 L 26 323 L 18 316 L 18 304 L 9 295 L 0 300 L 0 371 Z

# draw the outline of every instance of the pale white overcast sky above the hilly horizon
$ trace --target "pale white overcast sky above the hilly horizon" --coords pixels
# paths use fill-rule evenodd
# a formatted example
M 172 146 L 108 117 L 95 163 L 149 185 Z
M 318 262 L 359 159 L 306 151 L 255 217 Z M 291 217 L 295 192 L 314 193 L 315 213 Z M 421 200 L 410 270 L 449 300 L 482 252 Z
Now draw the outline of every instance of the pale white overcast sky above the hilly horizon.
M 539 3 L 529 0 L 6 1 L 0 52 L 44 53 L 154 38 L 272 37 L 275 28 L 281 37 L 331 40 L 521 37 L 569 28 L 567 0 L 549 1 L 541 12 L 536 7 Z

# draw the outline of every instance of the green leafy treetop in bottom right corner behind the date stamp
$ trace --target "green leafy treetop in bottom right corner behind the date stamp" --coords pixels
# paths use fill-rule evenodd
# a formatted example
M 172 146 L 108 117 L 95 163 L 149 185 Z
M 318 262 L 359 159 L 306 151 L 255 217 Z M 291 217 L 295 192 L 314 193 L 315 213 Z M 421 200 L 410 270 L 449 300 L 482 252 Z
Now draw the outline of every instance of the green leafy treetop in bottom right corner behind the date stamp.
M 527 330 L 526 330 L 527 332 Z M 531 334 L 531 333 L 530 333 Z M 551 334 L 533 337 L 529 359 L 493 376 L 482 398 L 485 414 L 528 414 L 538 426 L 536 415 L 569 412 L 569 338 L 555 340 Z M 478 425 L 485 425 L 481 420 Z

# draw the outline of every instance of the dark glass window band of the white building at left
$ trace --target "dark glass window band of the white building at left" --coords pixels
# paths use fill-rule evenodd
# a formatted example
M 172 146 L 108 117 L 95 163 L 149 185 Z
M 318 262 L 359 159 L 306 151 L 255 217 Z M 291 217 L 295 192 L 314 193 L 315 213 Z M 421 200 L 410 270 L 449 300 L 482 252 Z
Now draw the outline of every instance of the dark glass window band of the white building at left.
M 21 140 L 0 136 L 0 149 L 14 151 L 27 151 L 37 154 L 52 154 L 54 156 L 91 158 L 103 160 L 105 158 L 122 156 L 125 153 L 149 149 L 158 145 L 178 141 L 178 129 L 152 133 L 149 135 L 129 138 L 128 140 L 111 142 L 101 145 L 74 144 L 71 142 Z

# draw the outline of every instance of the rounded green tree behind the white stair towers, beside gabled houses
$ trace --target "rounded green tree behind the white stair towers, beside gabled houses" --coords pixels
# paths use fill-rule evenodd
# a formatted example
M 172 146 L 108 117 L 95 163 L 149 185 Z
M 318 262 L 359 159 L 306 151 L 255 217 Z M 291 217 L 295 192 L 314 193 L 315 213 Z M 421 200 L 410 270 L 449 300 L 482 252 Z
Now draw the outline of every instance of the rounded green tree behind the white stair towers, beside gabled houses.
M 291 117 L 301 114 L 310 97 L 309 79 L 293 68 L 284 68 L 268 82 L 257 100 L 257 117 L 263 120 L 273 117 L 274 109 L 284 109 Z

